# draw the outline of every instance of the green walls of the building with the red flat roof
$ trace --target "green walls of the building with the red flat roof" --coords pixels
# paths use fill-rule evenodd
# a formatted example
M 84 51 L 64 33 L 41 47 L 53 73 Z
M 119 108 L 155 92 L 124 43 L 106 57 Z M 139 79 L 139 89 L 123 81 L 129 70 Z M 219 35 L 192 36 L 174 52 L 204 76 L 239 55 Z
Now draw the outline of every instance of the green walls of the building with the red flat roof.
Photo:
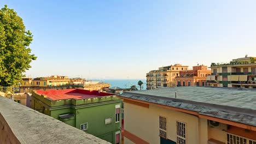
M 79 91 L 86 92 L 83 89 Z M 123 100 L 116 95 L 105 93 L 105 96 L 99 95 L 93 98 L 53 100 L 48 98 L 48 95 L 37 92 L 32 93 L 32 109 L 110 143 L 121 143 L 121 103 Z

